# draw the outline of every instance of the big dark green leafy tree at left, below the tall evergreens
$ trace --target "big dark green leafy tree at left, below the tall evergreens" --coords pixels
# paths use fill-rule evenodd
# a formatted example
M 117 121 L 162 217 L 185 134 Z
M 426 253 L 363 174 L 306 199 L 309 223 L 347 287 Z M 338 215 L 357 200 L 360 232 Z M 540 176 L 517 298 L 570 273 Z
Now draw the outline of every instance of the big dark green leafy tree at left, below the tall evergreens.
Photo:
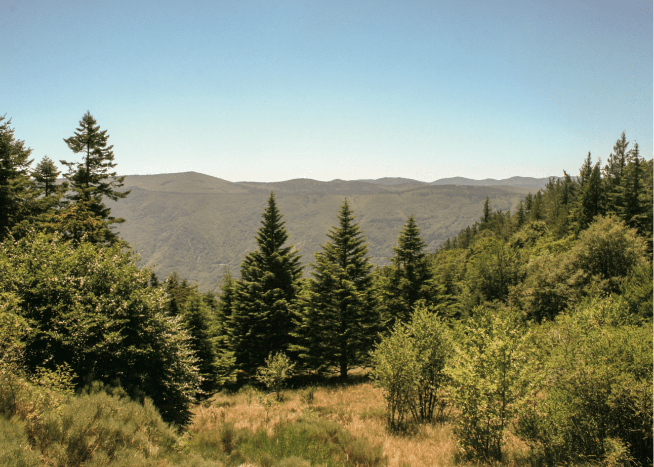
M 0 244 L 0 290 L 18 298 L 20 315 L 35 326 L 26 339 L 29 370 L 69 364 L 78 388 L 120 384 L 184 424 L 200 383 L 190 336 L 136 262 L 120 245 L 31 232 Z

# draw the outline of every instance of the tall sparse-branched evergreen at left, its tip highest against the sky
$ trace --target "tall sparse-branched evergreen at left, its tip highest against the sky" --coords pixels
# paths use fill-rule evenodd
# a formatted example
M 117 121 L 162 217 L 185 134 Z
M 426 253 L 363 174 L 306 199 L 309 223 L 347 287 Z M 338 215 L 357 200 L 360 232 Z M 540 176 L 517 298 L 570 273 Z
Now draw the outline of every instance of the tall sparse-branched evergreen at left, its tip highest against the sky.
M 87 241 L 94 243 L 117 243 L 118 236 L 111 230 L 111 224 L 125 222 L 122 218 L 111 216 L 111 209 L 103 202 L 103 197 L 117 201 L 128 196 L 129 191 L 120 192 L 125 177 L 118 177 L 111 171 L 114 163 L 113 145 L 107 146 L 107 130 L 100 126 L 90 112 L 80 120 L 75 135 L 64 139 L 75 154 L 83 154 L 82 162 L 66 162 L 64 174 L 70 181 L 71 194 L 67 199 L 71 206 L 61 221 L 67 234 L 79 241 L 87 235 Z

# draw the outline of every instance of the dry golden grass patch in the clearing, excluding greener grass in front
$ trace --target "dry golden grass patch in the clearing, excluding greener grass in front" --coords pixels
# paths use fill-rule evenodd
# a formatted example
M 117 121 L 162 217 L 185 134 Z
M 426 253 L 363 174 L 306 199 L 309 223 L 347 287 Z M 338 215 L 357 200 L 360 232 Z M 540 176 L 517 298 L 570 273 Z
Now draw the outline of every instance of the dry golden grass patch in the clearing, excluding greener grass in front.
M 386 429 L 385 401 L 379 388 L 371 383 L 345 387 L 324 387 L 315 390 L 313 402 L 306 402 L 306 390 L 284 392 L 283 402 L 273 402 L 265 396 L 245 388 L 237 394 L 217 394 L 207 404 L 193 409 L 190 427 L 194 432 L 218 430 L 224 423 L 252 432 L 266 428 L 272 433 L 275 426 L 298 419 L 326 419 L 336 421 L 356 438 L 365 438 L 371 445 L 383 446 L 389 467 L 451 467 L 460 458 L 460 449 L 451 427 L 420 426 L 413 436 L 393 435 Z M 525 447 L 511 439 L 507 445 L 509 465 L 520 464 Z

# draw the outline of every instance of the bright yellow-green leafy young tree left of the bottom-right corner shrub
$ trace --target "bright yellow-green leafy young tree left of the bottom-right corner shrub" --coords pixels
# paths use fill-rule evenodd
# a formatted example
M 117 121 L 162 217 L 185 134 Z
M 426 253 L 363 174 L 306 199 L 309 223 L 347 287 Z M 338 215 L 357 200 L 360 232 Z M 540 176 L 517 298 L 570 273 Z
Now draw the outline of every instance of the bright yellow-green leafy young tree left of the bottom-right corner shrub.
M 519 313 L 479 307 L 454 340 L 451 400 L 458 409 L 455 433 L 468 455 L 502 458 L 504 434 L 530 379 L 530 356 Z

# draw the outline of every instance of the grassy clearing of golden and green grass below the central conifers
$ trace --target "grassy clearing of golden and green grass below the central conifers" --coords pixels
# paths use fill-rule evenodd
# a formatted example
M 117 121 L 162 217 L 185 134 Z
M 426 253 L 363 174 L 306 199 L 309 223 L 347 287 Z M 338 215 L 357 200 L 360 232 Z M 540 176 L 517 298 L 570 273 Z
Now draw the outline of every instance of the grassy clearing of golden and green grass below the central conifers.
M 254 466 L 464 464 L 447 423 L 421 425 L 412 436 L 390 434 L 385 400 L 370 382 L 287 390 L 282 402 L 275 402 L 273 394 L 244 387 L 236 394 L 216 394 L 193 414 L 191 449 L 207 453 L 211 438 L 216 449 Z M 509 439 L 504 464 L 528 464 L 527 451 L 521 441 Z M 301 459 L 311 463 L 292 463 Z

